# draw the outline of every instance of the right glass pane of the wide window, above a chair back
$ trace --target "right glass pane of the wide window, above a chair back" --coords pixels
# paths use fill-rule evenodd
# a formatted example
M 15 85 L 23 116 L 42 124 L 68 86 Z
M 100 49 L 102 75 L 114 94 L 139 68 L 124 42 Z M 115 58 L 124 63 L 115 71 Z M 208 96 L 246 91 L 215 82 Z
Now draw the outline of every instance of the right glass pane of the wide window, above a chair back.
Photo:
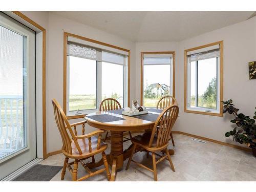
M 124 66 L 102 62 L 101 99 L 114 98 L 123 107 Z

